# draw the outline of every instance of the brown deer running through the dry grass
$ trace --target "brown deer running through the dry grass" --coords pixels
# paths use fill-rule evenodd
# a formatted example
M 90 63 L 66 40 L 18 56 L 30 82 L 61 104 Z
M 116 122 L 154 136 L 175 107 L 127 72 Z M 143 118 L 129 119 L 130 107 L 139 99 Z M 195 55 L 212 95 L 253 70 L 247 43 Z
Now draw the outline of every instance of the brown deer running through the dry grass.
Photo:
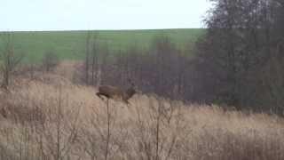
M 103 100 L 102 96 L 106 97 L 107 100 L 114 100 L 116 97 L 121 98 L 125 104 L 129 105 L 130 102 L 128 100 L 130 100 L 130 98 L 137 92 L 135 90 L 135 85 L 131 81 L 130 84 L 130 88 L 128 88 L 126 91 L 123 91 L 121 88 L 112 85 L 101 85 L 99 86 L 99 92 L 96 94 L 101 100 Z

